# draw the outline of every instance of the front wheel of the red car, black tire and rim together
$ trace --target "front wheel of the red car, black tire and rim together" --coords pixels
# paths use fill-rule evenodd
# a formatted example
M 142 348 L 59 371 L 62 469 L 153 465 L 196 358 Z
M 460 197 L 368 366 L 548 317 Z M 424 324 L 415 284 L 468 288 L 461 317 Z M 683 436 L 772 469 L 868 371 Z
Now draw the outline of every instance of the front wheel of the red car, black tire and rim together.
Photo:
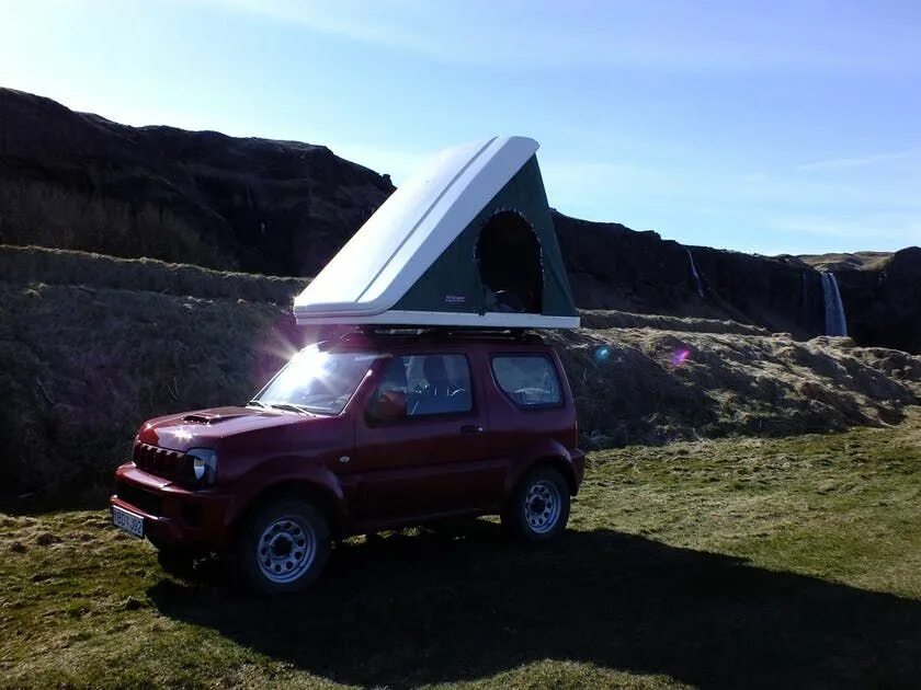
M 280 498 L 257 508 L 236 543 L 238 582 L 255 594 L 304 591 L 326 567 L 329 524 L 322 510 L 300 498 Z

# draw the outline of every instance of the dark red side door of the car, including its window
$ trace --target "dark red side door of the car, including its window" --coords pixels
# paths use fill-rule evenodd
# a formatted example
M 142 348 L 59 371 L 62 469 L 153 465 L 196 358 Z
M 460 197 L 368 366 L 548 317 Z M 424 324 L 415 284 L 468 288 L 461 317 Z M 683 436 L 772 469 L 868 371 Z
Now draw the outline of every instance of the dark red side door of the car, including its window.
M 480 509 L 501 491 L 482 391 L 463 350 L 397 354 L 355 430 L 363 521 Z

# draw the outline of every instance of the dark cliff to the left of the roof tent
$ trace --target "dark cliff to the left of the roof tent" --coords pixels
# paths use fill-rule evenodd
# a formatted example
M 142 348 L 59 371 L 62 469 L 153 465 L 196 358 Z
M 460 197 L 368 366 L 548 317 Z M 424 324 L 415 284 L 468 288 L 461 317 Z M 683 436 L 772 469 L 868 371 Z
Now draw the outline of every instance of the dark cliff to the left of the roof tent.
M 315 275 L 393 191 L 326 147 L 127 127 L 0 90 L 0 242 Z

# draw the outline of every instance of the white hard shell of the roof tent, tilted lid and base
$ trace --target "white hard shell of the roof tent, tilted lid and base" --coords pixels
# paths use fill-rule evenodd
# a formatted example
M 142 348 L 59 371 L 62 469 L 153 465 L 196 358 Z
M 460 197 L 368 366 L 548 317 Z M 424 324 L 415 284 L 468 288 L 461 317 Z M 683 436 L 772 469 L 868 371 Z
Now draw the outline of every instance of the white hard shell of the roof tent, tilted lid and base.
M 435 156 L 298 295 L 297 323 L 577 327 L 568 315 L 394 309 L 537 148 L 525 137 L 493 137 Z

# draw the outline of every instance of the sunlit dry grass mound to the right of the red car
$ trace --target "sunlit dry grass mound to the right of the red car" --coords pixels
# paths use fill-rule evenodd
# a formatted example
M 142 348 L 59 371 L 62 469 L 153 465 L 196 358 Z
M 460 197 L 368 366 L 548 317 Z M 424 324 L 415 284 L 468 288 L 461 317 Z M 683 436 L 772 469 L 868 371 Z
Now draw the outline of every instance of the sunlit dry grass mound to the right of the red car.
M 921 357 L 848 338 L 609 329 L 550 340 L 593 447 L 884 426 L 921 394 Z

